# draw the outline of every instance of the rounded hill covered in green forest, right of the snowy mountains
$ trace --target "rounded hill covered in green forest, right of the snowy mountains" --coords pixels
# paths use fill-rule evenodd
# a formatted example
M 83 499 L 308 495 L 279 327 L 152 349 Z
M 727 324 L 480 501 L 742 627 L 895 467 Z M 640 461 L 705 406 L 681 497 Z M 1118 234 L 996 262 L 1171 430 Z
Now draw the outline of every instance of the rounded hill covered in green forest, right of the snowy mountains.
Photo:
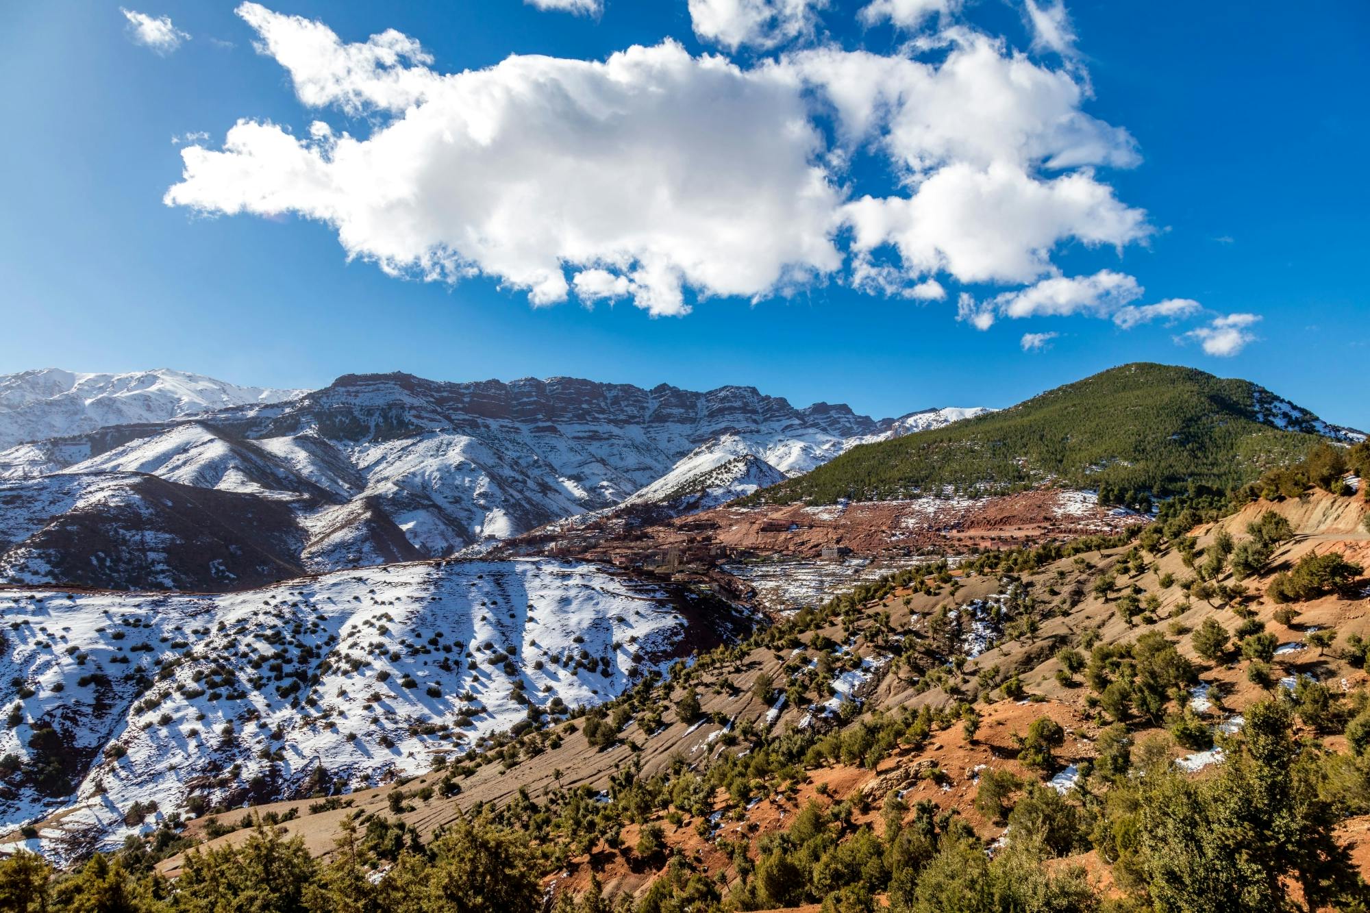
M 1226 489 L 1302 456 L 1318 428 L 1326 426 L 1315 415 L 1249 381 L 1123 365 L 1012 409 L 855 447 L 749 502 L 886 500 L 1043 483 L 1097 488 L 1108 502 L 1178 494 L 1191 483 Z

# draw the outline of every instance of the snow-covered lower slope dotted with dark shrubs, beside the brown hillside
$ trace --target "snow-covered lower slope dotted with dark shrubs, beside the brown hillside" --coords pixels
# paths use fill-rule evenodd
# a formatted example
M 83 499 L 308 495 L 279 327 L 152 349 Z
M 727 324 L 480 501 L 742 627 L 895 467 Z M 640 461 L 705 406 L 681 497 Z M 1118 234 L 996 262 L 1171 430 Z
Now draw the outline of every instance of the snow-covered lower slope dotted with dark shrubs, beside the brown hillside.
M 659 588 L 552 561 L 393 565 L 219 596 L 11 589 L 0 621 L 4 709 L 22 716 L 0 729 L 0 757 L 22 764 L 0 788 L 0 829 L 73 809 L 42 835 L 59 855 L 82 835 L 116 846 L 140 827 L 125 823 L 134 802 L 156 802 L 151 827 L 192 794 L 293 795 L 319 764 L 351 787 L 427 770 L 529 705 L 610 699 L 669 662 L 685 628 Z M 44 727 L 60 746 L 48 754 L 30 747 Z

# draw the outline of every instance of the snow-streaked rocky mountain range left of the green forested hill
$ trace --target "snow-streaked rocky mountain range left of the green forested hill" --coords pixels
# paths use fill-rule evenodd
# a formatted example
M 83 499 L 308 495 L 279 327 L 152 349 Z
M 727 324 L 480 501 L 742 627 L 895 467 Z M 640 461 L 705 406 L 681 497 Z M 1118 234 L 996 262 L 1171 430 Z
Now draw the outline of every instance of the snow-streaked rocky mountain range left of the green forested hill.
M 67 429 L 0 452 L 0 574 L 229 589 L 475 552 L 629 499 L 701 510 L 988 411 L 873 419 L 749 387 L 575 378 L 349 374 L 300 393 L 171 372 L 93 377 L 0 378 L 25 391 L 11 410 L 25 428 Z

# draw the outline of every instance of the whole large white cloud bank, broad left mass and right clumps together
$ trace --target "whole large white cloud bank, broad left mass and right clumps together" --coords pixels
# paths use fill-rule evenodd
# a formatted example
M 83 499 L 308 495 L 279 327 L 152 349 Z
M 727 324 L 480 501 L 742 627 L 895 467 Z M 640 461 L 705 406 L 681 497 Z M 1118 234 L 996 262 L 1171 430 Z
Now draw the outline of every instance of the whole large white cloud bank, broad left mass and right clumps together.
M 944 276 L 1034 282 L 1063 243 L 1151 232 L 1095 170 L 1137 163 L 1126 130 L 1084 114 L 1069 73 L 966 29 L 927 60 L 825 48 L 743 67 L 664 41 L 444 74 L 395 30 L 344 42 L 256 3 L 238 15 L 306 107 L 366 134 L 238 121 L 222 149 L 182 149 L 164 202 L 316 219 L 397 276 L 484 274 L 534 304 L 627 297 L 653 315 L 825 277 L 943 300 Z M 854 199 L 844 162 L 860 154 L 903 189 Z M 975 307 L 986 326 L 1000 310 Z

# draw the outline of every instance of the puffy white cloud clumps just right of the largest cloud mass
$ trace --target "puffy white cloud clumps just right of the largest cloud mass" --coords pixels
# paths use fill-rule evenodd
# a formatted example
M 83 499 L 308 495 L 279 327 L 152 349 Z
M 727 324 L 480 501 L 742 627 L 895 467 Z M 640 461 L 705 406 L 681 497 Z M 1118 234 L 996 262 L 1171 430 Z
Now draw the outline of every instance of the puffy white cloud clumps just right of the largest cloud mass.
M 906 281 L 945 270 L 964 282 L 1029 282 L 1051 271 L 1062 240 L 1125 245 L 1145 239 L 1130 208 L 1088 166 L 1129 167 L 1126 130 L 1080 110 L 1084 89 L 1066 73 L 1008 53 L 1000 41 L 955 30 L 937 63 L 833 48 L 785 58 L 837 117 L 851 147 L 885 152 L 908 196 L 848 204 L 856 278 L 885 245 Z M 1038 170 L 1078 169 L 1055 180 Z

